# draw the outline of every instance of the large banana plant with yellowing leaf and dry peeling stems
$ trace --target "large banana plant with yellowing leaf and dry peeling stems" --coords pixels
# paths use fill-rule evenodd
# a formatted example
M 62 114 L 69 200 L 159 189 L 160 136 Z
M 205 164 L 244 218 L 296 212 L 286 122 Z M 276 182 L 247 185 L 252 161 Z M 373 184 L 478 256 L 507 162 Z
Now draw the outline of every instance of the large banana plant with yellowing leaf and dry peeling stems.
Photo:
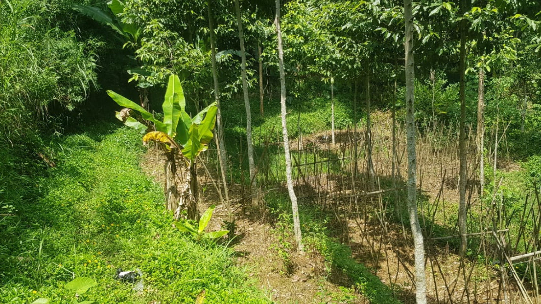
M 196 159 L 201 152 L 207 150 L 213 138 L 216 123 L 216 103 L 212 103 L 193 118 L 185 110 L 186 99 L 176 75 L 169 77 L 164 97 L 163 121 L 142 106 L 113 91 L 107 94 L 120 106 L 122 111 L 116 117 L 125 125 L 137 130 L 143 136 L 143 144 L 154 141 L 165 151 L 166 156 L 166 194 L 167 209 L 174 211 L 175 219 L 179 219 L 182 211 L 187 211 L 187 218 L 197 220 L 199 212 L 194 194 L 197 195 Z M 150 121 L 153 127 L 147 126 Z M 187 168 L 181 174 L 182 185 L 177 185 L 176 159 L 183 159 Z M 180 192 L 180 193 L 179 193 Z

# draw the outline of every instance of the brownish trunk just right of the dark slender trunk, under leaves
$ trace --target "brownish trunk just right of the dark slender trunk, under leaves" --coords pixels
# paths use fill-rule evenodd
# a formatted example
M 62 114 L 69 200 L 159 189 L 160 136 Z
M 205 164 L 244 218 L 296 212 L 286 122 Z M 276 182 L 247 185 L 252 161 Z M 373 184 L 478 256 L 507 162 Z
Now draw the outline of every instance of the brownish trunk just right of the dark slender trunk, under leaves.
M 477 90 L 477 157 L 479 160 L 479 190 L 483 197 L 483 188 L 485 185 L 485 70 L 483 66 L 479 68 L 479 85 Z

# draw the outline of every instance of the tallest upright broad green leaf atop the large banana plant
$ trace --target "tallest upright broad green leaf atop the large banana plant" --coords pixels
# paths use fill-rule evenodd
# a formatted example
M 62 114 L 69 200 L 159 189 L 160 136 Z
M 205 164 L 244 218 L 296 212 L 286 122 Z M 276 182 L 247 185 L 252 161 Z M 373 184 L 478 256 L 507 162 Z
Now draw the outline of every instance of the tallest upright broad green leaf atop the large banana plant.
M 184 100 L 184 92 L 180 85 L 180 79 L 176 75 L 169 76 L 166 96 L 163 100 L 163 123 L 167 125 L 167 134 L 174 137 L 177 124 L 181 117 L 181 112 L 184 110 L 186 101 Z

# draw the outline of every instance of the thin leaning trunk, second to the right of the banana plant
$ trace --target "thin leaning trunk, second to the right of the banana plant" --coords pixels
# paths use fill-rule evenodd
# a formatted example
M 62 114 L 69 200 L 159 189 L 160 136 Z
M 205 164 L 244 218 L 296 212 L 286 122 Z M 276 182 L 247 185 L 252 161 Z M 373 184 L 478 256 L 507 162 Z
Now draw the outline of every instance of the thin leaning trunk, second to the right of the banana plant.
M 235 11 L 237 15 L 237 25 L 239 26 L 240 52 L 242 58 L 242 92 L 244 94 L 244 106 L 246 107 L 246 140 L 248 150 L 248 170 L 250 175 L 250 192 L 252 193 L 252 205 L 258 206 L 259 200 L 255 180 L 254 148 L 252 145 L 252 112 L 250 111 L 250 100 L 248 97 L 248 81 L 246 79 L 246 52 L 244 49 L 244 33 L 242 30 L 239 0 L 235 0 Z

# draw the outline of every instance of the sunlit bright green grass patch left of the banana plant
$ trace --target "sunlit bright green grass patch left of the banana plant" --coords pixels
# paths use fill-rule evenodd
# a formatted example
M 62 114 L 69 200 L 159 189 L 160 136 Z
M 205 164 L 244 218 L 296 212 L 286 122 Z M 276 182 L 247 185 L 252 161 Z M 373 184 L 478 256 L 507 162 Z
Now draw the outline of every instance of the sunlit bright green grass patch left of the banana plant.
M 97 281 L 84 295 L 96 303 L 193 303 L 203 289 L 204 303 L 271 302 L 232 249 L 171 227 L 162 186 L 138 166 L 140 135 L 110 127 L 57 140 L 57 167 L 33 177 L 34 195 L 0 222 L 0 302 L 66 303 L 74 276 Z M 114 280 L 120 267 L 141 269 L 143 292 Z

